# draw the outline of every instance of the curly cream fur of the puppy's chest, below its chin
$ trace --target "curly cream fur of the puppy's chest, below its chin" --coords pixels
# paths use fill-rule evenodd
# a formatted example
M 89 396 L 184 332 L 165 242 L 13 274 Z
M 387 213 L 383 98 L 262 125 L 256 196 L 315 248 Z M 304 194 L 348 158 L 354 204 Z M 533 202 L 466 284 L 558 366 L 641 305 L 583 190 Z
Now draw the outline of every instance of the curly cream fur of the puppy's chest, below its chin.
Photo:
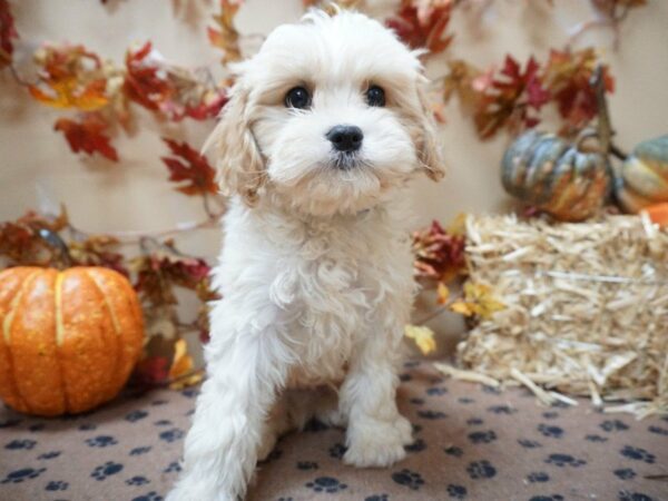
M 391 275 L 387 247 L 395 245 L 385 242 L 383 250 L 353 235 L 311 235 L 276 263 L 269 294 L 307 372 L 336 377 L 369 333 Z

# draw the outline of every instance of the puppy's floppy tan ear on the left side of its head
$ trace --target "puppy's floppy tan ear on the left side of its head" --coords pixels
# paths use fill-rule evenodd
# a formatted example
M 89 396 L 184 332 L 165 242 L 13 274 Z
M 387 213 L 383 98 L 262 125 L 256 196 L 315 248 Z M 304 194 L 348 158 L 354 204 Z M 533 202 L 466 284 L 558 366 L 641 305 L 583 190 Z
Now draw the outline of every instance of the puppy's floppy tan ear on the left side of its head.
M 250 128 L 248 90 L 240 84 L 232 88 L 232 97 L 203 150 L 212 146 L 216 149 L 217 180 L 223 194 L 238 194 L 248 205 L 253 205 L 265 181 L 266 171 Z

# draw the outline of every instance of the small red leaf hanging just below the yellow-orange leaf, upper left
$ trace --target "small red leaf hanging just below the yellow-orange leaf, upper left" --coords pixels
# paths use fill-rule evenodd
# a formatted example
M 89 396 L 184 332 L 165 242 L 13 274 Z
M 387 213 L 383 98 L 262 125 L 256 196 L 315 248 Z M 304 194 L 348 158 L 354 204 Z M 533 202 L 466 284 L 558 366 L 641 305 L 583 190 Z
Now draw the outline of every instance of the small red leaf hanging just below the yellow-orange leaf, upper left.
M 80 121 L 60 118 L 53 126 L 65 134 L 65 138 L 73 153 L 95 153 L 118 161 L 118 153 L 111 146 L 109 136 L 105 135 L 108 124 L 98 114 L 86 114 Z

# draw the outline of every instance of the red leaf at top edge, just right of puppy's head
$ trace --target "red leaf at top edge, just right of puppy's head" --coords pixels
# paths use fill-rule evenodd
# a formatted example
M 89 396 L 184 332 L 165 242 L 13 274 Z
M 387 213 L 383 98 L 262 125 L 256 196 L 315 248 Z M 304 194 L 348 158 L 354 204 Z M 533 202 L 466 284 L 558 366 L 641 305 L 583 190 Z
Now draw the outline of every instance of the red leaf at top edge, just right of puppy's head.
M 452 0 L 402 0 L 395 16 L 385 24 L 413 49 L 426 48 L 432 53 L 442 52 L 452 41 L 444 37 L 452 14 Z

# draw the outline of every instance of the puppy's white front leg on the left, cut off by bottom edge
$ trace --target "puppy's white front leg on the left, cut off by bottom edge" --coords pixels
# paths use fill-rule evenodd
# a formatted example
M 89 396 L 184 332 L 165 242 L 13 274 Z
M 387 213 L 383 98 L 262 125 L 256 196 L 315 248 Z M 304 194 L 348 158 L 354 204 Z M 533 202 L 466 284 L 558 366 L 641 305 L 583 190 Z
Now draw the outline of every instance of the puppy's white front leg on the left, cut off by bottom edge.
M 184 472 L 167 501 L 244 497 L 265 418 L 285 380 L 285 351 L 275 332 L 216 341 L 207 346 L 208 379 L 186 438 Z

